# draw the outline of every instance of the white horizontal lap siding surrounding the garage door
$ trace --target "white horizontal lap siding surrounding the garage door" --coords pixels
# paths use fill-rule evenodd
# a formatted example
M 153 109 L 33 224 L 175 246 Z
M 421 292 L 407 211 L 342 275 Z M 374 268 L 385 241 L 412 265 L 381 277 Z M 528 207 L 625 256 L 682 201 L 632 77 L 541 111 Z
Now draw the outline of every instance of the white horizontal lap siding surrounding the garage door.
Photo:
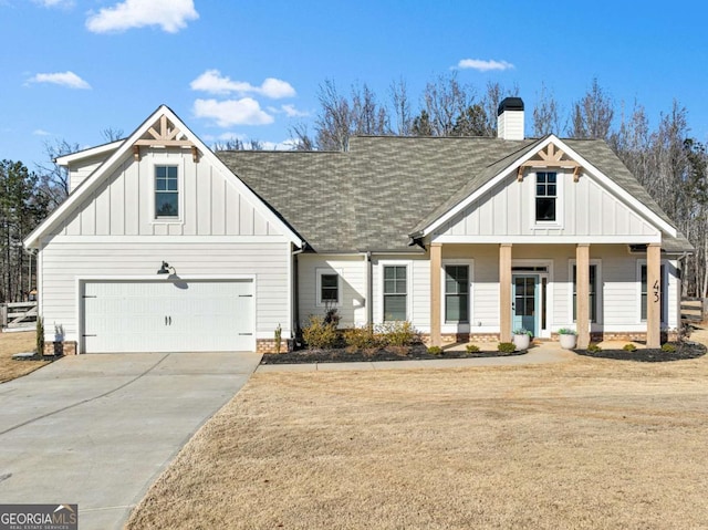
M 42 250 L 42 308 L 45 329 L 64 328 L 67 340 L 79 341 L 81 293 L 77 280 L 86 278 L 126 279 L 148 277 L 159 280 L 163 260 L 174 266 L 180 278 L 253 278 L 257 339 L 272 339 L 280 324 L 290 336 L 290 243 L 254 242 L 107 242 L 62 241 L 55 238 Z

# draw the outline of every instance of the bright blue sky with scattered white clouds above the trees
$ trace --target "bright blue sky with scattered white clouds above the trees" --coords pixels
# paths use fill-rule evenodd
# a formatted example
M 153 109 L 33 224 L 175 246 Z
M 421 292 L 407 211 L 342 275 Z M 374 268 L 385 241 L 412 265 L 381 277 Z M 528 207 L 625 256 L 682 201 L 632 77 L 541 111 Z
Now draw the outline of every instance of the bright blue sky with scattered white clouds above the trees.
M 282 144 L 326 79 L 386 101 L 403 79 L 416 103 L 452 70 L 480 93 L 518 86 L 529 112 L 542 83 L 568 112 L 593 77 L 652 126 L 676 98 L 706 142 L 707 14 L 698 1 L 0 0 L 0 158 L 34 168 L 46 142 L 97 145 L 163 103 L 209 145 Z

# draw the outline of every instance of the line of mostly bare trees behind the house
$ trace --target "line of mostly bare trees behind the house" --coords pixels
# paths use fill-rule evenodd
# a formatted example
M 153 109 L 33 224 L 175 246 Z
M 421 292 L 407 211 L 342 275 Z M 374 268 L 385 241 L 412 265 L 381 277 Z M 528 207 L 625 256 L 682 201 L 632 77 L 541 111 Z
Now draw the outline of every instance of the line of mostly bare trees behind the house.
M 394 81 L 383 100 L 366 84 L 342 92 L 326 80 L 319 87 L 312 122 L 293 124 L 290 134 L 293 148 L 301 150 L 346 150 L 354 135 L 493 137 L 499 103 L 518 95 L 518 86 L 488 83 L 479 89 L 461 83 L 455 73 L 428 82 L 417 97 L 410 96 L 404 80 Z M 689 134 L 687 110 L 674 101 L 652 126 L 638 102 L 616 102 L 592 80 L 568 110 L 542 85 L 527 115 L 533 137 L 553 133 L 608 143 L 696 248 L 686 260 L 683 294 L 707 298 L 708 152 Z M 103 135 L 112 142 L 123 133 L 108 128 Z M 214 148 L 260 149 L 262 144 L 235 139 Z M 53 160 L 76 150 L 79 145 L 66 141 L 46 144 L 48 160 L 34 172 L 20 162 L 0 163 L 0 303 L 22 300 L 35 287 L 33 258 L 21 242 L 67 196 L 69 176 Z

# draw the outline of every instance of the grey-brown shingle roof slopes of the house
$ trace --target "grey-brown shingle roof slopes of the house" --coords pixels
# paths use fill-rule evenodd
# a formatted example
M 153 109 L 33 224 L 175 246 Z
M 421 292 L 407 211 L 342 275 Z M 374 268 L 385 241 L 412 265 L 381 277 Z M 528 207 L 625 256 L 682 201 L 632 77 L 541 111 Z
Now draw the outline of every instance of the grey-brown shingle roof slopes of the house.
M 395 251 L 539 142 L 358 136 L 346 153 L 216 155 L 315 251 Z M 670 222 L 604 142 L 563 142 Z M 666 250 L 690 249 L 674 239 Z

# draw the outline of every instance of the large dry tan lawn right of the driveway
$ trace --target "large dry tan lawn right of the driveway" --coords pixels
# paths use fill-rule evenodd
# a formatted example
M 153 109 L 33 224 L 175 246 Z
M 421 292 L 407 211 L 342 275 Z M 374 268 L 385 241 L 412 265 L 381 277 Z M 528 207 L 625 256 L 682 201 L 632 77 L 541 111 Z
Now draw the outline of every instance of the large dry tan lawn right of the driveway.
M 127 528 L 708 528 L 708 360 L 256 374 Z

